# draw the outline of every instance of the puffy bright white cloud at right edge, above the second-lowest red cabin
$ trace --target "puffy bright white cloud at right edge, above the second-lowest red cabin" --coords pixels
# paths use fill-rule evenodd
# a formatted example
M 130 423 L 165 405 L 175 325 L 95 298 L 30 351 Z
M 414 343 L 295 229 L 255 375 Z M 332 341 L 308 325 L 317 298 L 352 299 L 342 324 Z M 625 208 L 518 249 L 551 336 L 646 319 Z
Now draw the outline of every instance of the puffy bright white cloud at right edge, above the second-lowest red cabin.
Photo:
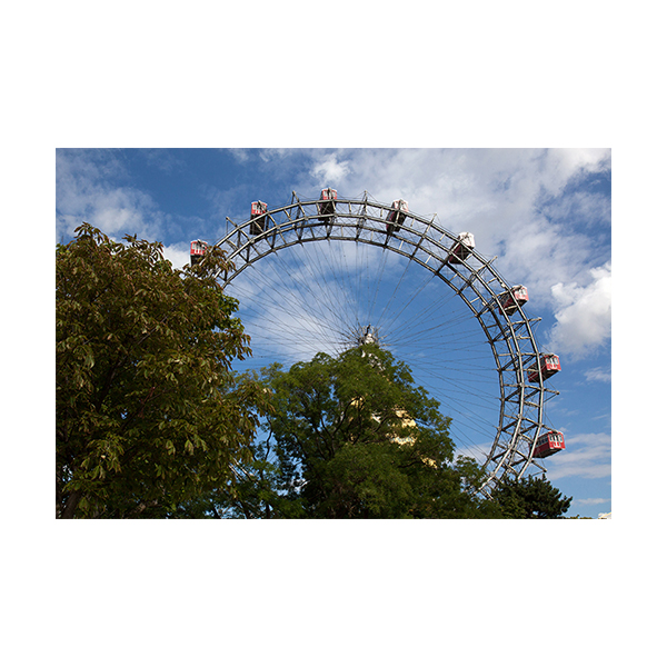
M 559 282 L 551 288 L 556 300 L 556 325 L 550 346 L 581 358 L 611 337 L 611 265 L 589 271 L 593 281 L 580 287 Z

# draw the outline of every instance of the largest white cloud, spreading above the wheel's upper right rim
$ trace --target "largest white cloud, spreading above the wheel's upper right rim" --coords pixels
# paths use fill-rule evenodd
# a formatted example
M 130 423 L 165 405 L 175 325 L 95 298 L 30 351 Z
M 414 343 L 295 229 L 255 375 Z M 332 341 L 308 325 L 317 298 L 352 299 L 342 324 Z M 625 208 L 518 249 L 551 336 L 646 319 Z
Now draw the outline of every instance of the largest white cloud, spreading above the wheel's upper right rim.
M 475 233 L 479 252 L 498 256 L 496 269 L 528 287 L 532 307 L 549 307 L 551 286 L 583 282 L 608 257 L 589 236 L 593 226 L 610 226 L 608 198 L 566 190 L 581 176 L 608 169 L 607 149 L 340 149 L 308 156 L 313 167 L 297 183 L 299 191 L 330 185 L 340 197 L 367 191 L 384 202 L 401 197 L 426 217 L 437 212 L 450 231 Z

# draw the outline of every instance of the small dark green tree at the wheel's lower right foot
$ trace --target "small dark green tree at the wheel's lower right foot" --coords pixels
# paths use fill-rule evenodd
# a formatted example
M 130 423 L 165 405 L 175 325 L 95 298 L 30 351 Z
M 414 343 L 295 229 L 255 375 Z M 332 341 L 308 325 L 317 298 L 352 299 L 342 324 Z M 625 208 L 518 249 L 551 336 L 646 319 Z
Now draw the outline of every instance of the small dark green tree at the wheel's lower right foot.
M 504 480 L 494 499 L 510 519 L 558 519 L 573 501 L 544 476 Z

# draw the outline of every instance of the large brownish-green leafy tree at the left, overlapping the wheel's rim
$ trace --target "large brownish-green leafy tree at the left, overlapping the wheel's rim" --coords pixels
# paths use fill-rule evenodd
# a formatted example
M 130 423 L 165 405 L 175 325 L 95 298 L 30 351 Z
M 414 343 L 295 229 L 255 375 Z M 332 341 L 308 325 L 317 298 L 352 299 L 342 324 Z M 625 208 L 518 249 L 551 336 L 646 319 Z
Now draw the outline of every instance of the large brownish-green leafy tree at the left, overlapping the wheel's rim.
M 178 516 L 229 484 L 266 405 L 211 248 L 175 270 L 160 243 L 83 223 L 56 261 L 56 506 L 60 518 Z

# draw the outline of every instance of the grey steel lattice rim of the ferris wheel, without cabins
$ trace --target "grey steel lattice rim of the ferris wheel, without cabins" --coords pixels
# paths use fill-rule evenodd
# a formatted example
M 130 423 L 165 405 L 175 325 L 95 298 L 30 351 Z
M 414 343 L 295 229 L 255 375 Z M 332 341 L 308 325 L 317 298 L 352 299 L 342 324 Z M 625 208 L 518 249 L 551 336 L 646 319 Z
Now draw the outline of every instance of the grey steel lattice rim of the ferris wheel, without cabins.
M 259 260 L 280 250 L 307 243 L 335 241 L 366 243 L 402 256 L 410 265 L 418 265 L 446 283 L 480 326 L 495 361 L 499 390 L 498 424 L 489 447 L 485 480 L 480 492 L 490 495 L 506 477 L 520 478 L 534 466 L 545 468 L 534 458 L 537 438 L 544 425 L 544 406 L 549 394 L 541 375 L 538 381 L 528 381 L 528 369 L 539 360 L 537 340 L 522 308 L 512 313 L 500 307 L 511 283 L 495 269 L 496 258 L 487 259 L 477 250 L 460 263 L 448 263 L 457 235 L 436 221 L 414 212 L 406 212 L 400 226 L 387 233 L 390 205 L 369 199 L 337 199 L 335 215 L 320 213 L 319 200 L 300 201 L 292 195 L 291 203 L 268 210 L 259 229 L 252 220 L 231 223 L 230 231 L 216 243 L 233 263 L 219 281 L 229 289 L 235 280 Z M 470 230 L 474 231 L 474 230 Z

